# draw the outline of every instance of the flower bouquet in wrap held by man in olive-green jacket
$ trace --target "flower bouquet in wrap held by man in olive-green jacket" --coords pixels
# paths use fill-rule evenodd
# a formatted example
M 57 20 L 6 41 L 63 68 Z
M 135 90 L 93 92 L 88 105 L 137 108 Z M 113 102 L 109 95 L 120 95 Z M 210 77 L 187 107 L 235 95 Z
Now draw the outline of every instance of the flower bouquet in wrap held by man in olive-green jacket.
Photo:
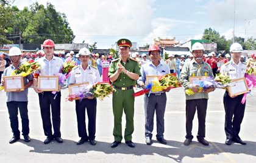
M 208 76 L 205 80 L 199 81 L 198 82 L 198 87 L 199 91 L 198 92 L 203 92 L 203 89 L 208 89 L 210 87 L 212 88 L 227 88 L 231 86 L 232 79 L 229 78 L 227 73 L 221 74 L 218 73 L 216 74 L 216 77 L 213 78 L 213 76 Z M 191 89 L 185 90 L 185 93 L 187 95 L 194 95 L 194 93 Z

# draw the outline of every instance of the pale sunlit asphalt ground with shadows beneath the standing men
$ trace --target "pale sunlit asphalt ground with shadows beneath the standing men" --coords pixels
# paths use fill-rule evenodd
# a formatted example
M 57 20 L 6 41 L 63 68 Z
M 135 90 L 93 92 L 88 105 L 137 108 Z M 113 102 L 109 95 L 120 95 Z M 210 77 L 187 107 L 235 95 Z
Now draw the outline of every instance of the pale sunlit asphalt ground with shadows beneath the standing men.
M 135 91 L 140 90 L 139 88 Z M 63 143 L 52 141 L 43 144 L 43 125 L 40 115 L 38 95 L 29 88 L 29 127 L 30 142 L 24 142 L 23 136 L 14 144 L 5 92 L 0 96 L 0 162 L 256 162 L 256 90 L 247 96 L 246 112 L 241 124 L 240 137 L 247 145 L 233 143 L 226 145 L 224 133 L 224 90 L 216 89 L 210 93 L 206 117 L 206 138 L 210 145 L 197 142 L 197 116 L 193 121 L 194 139 L 189 146 L 185 141 L 185 93 L 183 88 L 174 88 L 167 93 L 165 111 L 166 145 L 157 142 L 156 125 L 153 131 L 153 144 L 146 145 L 144 138 L 144 102 L 143 96 L 135 98 L 135 130 L 132 141 L 135 148 L 130 148 L 124 140 L 116 148 L 110 145 L 114 141 L 112 96 L 104 101 L 98 100 L 95 146 L 90 142 L 76 145 L 79 141 L 74 102 L 66 102 L 68 88 L 62 88 L 61 132 Z M 21 119 L 20 131 L 21 131 Z M 123 133 L 125 128 L 123 115 Z

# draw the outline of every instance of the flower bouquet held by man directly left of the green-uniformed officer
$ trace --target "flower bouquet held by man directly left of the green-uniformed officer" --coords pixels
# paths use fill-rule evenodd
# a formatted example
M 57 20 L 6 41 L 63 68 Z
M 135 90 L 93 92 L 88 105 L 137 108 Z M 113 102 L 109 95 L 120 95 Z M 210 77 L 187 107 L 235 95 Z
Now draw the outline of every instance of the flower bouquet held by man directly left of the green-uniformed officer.
M 92 87 L 83 87 L 77 95 L 69 95 L 65 101 L 74 98 L 79 98 L 79 101 L 82 101 L 82 99 L 88 98 L 88 96 L 93 96 L 94 98 L 98 98 L 100 101 L 102 101 L 105 96 L 109 97 L 108 95 L 112 93 L 113 87 L 110 85 L 110 82 L 98 82 Z

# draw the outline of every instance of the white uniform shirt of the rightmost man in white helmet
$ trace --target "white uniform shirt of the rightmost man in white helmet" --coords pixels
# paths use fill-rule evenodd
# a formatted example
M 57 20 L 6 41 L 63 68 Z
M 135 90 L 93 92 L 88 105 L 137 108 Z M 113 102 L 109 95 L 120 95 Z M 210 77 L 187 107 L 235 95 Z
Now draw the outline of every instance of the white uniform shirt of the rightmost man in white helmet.
M 226 63 L 227 65 L 224 64 L 221 66 L 220 73 L 227 72 L 227 75 L 229 75 L 232 80 L 244 78 L 244 74 L 246 73 L 246 64 L 239 61 L 236 65 L 233 60 L 228 63 L 229 64 Z

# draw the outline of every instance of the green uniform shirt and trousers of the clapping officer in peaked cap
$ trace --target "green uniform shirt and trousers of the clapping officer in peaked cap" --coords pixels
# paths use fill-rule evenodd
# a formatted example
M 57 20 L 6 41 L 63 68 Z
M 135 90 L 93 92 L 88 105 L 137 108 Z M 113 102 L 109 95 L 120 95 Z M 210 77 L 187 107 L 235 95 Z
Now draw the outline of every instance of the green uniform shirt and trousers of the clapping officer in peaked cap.
M 118 68 L 118 63 L 121 63 L 126 70 L 132 73 L 140 74 L 140 68 L 138 65 L 138 62 L 128 58 L 126 63 L 121 60 L 121 58 L 115 59 L 111 62 L 110 67 L 108 69 L 108 76 L 113 75 Z M 124 131 L 124 139 L 125 141 L 131 141 L 132 140 L 132 133 L 134 130 L 133 126 L 133 116 L 134 116 L 134 97 L 133 88 L 130 88 L 128 90 L 124 90 L 126 87 L 130 87 L 133 85 L 136 85 L 136 81 L 133 79 L 130 79 L 129 76 L 121 72 L 118 76 L 118 79 L 112 83 L 112 85 L 115 87 L 122 87 L 120 88 L 114 88 L 115 91 L 113 91 L 113 114 L 114 114 L 114 130 L 113 135 L 115 136 L 115 141 L 121 142 L 123 139 L 122 136 L 122 116 L 123 116 L 123 110 L 126 114 L 126 130 Z

